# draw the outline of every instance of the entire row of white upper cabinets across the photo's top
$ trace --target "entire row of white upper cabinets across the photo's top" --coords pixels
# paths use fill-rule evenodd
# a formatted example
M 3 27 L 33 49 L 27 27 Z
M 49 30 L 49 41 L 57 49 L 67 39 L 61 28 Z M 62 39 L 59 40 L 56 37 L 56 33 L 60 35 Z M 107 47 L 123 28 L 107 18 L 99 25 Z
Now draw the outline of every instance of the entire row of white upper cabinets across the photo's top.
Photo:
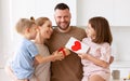
M 130 0 L 11 0 L 12 23 L 15 24 L 21 16 L 48 16 L 55 26 L 53 11 L 58 2 L 69 5 L 72 25 L 87 26 L 89 18 L 104 16 L 110 26 L 130 26 Z

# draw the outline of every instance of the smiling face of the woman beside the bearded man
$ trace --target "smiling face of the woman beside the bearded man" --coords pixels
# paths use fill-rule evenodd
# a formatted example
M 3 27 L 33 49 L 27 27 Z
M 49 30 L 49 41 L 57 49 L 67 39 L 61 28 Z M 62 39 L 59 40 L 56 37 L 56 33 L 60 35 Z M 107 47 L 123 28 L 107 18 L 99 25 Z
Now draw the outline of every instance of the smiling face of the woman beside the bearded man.
M 52 23 L 50 21 L 47 21 L 40 28 L 40 33 L 43 39 L 50 39 L 53 29 L 52 29 Z

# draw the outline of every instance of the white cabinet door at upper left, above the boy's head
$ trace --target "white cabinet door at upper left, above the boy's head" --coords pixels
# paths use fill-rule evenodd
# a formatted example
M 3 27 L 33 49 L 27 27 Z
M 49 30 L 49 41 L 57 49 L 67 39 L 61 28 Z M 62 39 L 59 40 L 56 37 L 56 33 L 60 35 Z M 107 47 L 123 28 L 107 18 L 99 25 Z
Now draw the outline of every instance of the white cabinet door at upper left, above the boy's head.
M 20 18 L 35 16 L 36 0 L 11 0 L 10 17 L 12 27 L 15 26 Z

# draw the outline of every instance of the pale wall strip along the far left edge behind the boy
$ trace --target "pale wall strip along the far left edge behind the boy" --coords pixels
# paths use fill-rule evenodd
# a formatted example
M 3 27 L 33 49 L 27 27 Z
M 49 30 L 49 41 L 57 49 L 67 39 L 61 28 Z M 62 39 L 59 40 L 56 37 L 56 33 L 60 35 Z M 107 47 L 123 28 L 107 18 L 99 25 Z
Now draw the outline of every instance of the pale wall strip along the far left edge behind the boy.
M 0 68 L 12 51 L 12 28 L 10 22 L 10 0 L 0 0 Z

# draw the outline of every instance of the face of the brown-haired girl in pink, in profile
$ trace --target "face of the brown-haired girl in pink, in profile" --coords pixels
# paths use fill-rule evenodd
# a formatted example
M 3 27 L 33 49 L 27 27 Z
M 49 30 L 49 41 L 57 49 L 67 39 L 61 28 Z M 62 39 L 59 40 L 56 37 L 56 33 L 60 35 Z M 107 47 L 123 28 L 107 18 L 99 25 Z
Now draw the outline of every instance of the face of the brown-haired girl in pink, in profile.
M 91 24 L 88 24 L 88 27 L 86 29 L 87 36 L 91 39 L 95 38 L 95 30 L 91 27 Z

